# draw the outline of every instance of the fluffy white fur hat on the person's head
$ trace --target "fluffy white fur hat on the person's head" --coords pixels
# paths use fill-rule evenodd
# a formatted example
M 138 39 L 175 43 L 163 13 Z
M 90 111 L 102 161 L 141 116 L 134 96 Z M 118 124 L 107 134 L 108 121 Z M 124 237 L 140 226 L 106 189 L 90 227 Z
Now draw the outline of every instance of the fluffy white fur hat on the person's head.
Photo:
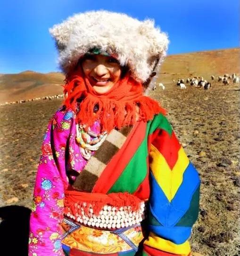
M 56 40 L 58 63 L 64 73 L 90 49 L 98 47 L 115 53 L 120 64 L 128 65 L 133 78 L 141 82 L 149 78 L 157 60 L 157 67 L 163 62 L 169 43 L 153 20 L 140 21 L 105 10 L 75 14 L 49 31 Z

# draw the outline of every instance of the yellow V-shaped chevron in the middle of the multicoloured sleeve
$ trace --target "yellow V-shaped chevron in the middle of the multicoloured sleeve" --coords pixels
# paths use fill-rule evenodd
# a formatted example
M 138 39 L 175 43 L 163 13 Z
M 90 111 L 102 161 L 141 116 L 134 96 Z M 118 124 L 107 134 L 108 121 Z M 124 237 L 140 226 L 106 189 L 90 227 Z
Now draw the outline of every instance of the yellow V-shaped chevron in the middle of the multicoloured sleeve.
M 182 176 L 189 165 L 189 159 L 181 147 L 178 151 L 178 160 L 171 170 L 166 159 L 155 146 L 151 145 L 149 155 L 151 157 L 149 167 L 168 201 L 171 202 L 179 186 L 182 184 Z

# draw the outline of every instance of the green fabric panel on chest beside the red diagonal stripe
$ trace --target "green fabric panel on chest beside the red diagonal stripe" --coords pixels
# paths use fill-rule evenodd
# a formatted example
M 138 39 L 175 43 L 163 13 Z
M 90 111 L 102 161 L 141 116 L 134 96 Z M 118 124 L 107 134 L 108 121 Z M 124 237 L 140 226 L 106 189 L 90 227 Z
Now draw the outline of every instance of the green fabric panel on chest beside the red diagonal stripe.
M 134 193 L 147 175 L 147 155 L 148 155 L 148 132 L 150 122 L 146 127 L 146 134 L 141 145 L 136 150 L 120 177 L 110 188 L 108 193 L 128 192 Z

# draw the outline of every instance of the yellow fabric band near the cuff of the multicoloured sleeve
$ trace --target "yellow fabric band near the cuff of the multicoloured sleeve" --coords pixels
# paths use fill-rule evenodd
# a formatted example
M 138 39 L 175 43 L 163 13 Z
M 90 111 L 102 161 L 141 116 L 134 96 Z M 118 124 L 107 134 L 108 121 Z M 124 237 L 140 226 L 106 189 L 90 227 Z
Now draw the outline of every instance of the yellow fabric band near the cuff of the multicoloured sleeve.
M 181 256 L 188 256 L 190 254 L 189 241 L 186 241 L 180 245 L 176 245 L 168 240 L 157 237 L 152 232 L 149 233 L 149 237 L 144 241 L 144 244 L 164 252 L 178 254 Z

